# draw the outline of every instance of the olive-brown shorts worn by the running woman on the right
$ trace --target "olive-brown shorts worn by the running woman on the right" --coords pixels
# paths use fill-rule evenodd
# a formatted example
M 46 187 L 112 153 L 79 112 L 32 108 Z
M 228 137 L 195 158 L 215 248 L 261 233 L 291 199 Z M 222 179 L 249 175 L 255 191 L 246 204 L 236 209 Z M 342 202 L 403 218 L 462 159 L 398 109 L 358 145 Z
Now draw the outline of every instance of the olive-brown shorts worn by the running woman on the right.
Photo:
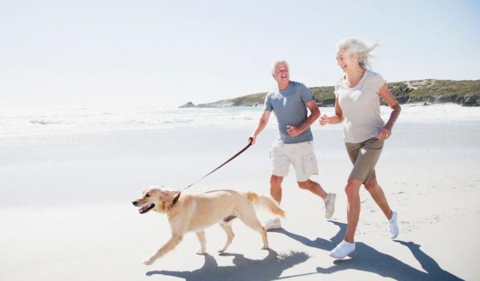
M 375 180 L 375 165 L 383 149 L 383 140 L 372 138 L 360 143 L 345 142 L 348 156 L 353 164 L 350 179 L 359 180 L 364 184 Z

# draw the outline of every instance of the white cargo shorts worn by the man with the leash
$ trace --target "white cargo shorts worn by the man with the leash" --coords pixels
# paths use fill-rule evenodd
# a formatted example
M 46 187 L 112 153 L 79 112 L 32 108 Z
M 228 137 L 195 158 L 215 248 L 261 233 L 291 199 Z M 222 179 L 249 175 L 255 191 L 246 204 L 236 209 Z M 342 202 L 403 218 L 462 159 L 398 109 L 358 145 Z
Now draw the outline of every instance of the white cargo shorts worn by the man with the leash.
M 290 164 L 293 165 L 297 181 L 306 181 L 311 175 L 318 175 L 317 158 L 313 151 L 313 141 L 282 143 L 275 141 L 270 151 L 272 175 L 285 177 Z

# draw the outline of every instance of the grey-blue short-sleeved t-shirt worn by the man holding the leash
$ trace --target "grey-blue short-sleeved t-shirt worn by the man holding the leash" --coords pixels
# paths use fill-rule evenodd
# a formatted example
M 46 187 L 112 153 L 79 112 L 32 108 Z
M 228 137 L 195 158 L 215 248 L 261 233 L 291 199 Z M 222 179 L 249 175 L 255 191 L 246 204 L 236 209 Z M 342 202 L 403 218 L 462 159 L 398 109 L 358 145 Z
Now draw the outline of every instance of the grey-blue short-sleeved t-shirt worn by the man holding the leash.
M 307 119 L 305 103 L 311 100 L 314 100 L 312 90 L 295 81 L 290 81 L 284 90 L 276 89 L 267 94 L 263 110 L 275 113 L 279 124 L 279 141 L 283 143 L 313 141 L 310 127 L 296 137 L 291 137 L 287 133 L 287 125 L 298 127 Z

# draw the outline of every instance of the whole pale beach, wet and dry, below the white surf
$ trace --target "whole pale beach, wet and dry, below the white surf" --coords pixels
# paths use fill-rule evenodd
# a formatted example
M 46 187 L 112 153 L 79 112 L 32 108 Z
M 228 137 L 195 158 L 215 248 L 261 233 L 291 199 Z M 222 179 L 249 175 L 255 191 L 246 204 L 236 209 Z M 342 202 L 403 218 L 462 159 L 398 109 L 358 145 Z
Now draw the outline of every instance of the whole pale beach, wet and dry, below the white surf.
M 248 136 L 255 114 L 232 121 L 244 120 L 239 127 L 207 130 L 203 139 L 197 136 L 204 128 L 178 127 L 2 136 L 0 280 L 480 280 L 480 243 L 474 239 L 480 233 L 477 116 L 466 125 L 400 120 L 377 165 L 380 185 L 399 214 L 394 241 L 362 190 L 357 250 L 345 260 L 328 256 L 346 229 L 343 185 L 351 164 L 342 151 L 341 127 L 318 126 L 313 132 L 320 173 L 312 179 L 337 193 L 332 219 L 323 218 L 320 199 L 300 190 L 291 172 L 281 204 L 287 220 L 268 233 L 269 250 L 260 249 L 258 233 L 234 221 L 236 237 L 226 253 L 217 252 L 225 235 L 214 225 L 206 230 L 207 254 L 195 254 L 199 243 L 187 234 L 176 250 L 143 265 L 168 240 L 170 228 L 164 215 L 140 215 L 131 201 L 148 185 L 181 188 L 209 172 L 245 145 L 246 138 L 235 140 Z M 268 194 L 275 127 L 262 134 L 192 189 Z M 267 218 L 261 211 L 259 217 Z

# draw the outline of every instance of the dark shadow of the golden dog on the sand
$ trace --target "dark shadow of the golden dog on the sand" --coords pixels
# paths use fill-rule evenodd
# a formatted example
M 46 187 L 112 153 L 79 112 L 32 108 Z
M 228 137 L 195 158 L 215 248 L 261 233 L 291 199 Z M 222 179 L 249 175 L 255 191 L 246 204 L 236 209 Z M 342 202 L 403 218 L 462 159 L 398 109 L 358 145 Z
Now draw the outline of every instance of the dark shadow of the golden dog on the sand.
M 233 256 L 233 264 L 219 266 L 217 261 L 209 254 L 205 254 L 205 263 L 194 271 L 149 271 L 148 276 L 155 274 L 184 278 L 186 281 L 268 281 L 276 280 L 281 273 L 296 264 L 308 260 L 310 257 L 303 252 L 290 252 L 278 254 L 268 249 L 268 256 L 263 260 L 247 259 L 240 254 L 219 254 L 220 256 Z

